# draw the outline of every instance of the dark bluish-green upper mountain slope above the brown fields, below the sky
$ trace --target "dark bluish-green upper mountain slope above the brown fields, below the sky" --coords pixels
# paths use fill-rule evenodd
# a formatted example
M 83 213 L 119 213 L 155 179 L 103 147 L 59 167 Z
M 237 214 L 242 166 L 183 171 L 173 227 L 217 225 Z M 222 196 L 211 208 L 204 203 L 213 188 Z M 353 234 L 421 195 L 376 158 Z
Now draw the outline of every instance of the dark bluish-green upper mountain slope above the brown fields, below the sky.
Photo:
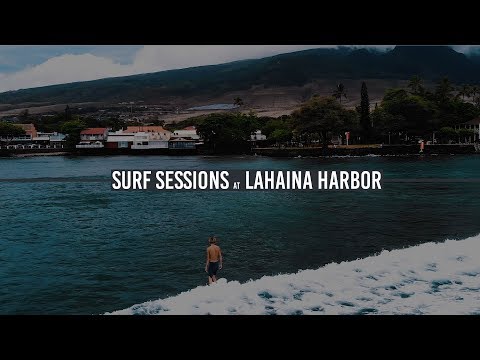
M 340 47 L 314 49 L 263 59 L 193 67 L 150 74 L 8 91 L 0 103 L 80 103 L 144 100 L 166 97 L 214 98 L 229 91 L 302 86 L 317 80 L 409 79 L 444 76 L 457 83 L 480 81 L 480 61 L 447 46 L 397 46 L 387 52 Z

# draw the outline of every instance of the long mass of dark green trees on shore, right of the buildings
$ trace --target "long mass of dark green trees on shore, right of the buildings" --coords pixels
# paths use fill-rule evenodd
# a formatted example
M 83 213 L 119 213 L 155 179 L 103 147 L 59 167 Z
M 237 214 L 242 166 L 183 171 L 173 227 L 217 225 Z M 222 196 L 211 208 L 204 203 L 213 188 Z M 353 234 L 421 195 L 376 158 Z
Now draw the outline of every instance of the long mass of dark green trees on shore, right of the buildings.
M 351 134 L 350 143 L 417 143 L 419 138 L 441 143 L 471 141 L 473 132 L 455 130 L 456 125 L 480 115 L 474 87 L 465 86 L 464 94 L 455 93 L 453 84 L 442 78 L 433 91 L 423 86 L 419 76 L 412 77 L 405 88 L 389 89 L 380 104 L 370 111 L 370 100 L 365 82 L 361 87 L 361 101 L 356 111 L 341 104 L 338 94 L 332 97 L 313 96 L 291 116 L 280 118 L 257 117 L 239 113 L 217 113 L 198 116 L 178 123 L 175 128 L 197 126 L 207 147 L 215 152 L 245 152 L 250 134 L 261 130 L 267 140 L 261 146 L 315 146 L 326 147 L 333 137 Z M 464 95 L 464 96 L 462 96 Z

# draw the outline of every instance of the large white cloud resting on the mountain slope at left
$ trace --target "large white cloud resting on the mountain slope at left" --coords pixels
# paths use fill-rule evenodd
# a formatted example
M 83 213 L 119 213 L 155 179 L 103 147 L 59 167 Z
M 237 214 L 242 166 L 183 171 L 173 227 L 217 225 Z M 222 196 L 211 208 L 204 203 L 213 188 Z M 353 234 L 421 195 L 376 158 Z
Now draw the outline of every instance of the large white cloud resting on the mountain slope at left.
M 261 58 L 285 52 L 304 50 L 316 45 L 155 45 L 141 47 L 129 64 L 118 58 L 92 53 L 69 53 L 13 73 L 0 73 L 0 91 L 45 85 L 88 81 L 106 77 L 133 75 L 191 66 L 220 64 L 229 61 Z M 68 48 L 68 47 L 66 47 Z M 71 49 L 71 47 L 70 47 Z M 25 48 L 22 48 L 25 51 Z M 38 50 L 38 49 L 36 49 Z M 58 48 L 54 49 L 58 51 Z M 76 49 L 77 50 L 77 49 Z M 90 49 L 92 50 L 92 49 Z M 104 54 L 107 54 L 106 50 Z M 25 55 L 23 55 L 25 56 Z

